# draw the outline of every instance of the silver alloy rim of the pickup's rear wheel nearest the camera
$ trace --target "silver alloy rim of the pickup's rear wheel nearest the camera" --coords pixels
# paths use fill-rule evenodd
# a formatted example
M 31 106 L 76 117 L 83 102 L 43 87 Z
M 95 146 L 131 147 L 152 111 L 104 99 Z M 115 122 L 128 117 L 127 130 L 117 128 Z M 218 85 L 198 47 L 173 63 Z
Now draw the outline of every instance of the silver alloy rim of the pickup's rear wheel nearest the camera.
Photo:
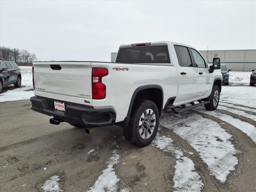
M 148 139 L 153 134 L 156 126 L 156 115 L 152 109 L 142 113 L 139 123 L 139 133 L 143 139 Z

